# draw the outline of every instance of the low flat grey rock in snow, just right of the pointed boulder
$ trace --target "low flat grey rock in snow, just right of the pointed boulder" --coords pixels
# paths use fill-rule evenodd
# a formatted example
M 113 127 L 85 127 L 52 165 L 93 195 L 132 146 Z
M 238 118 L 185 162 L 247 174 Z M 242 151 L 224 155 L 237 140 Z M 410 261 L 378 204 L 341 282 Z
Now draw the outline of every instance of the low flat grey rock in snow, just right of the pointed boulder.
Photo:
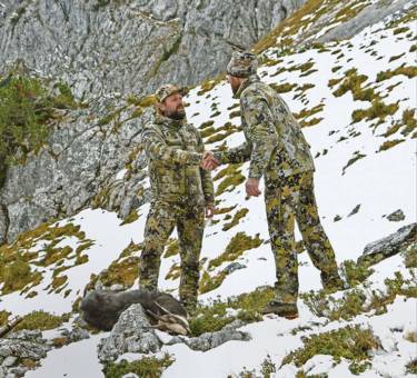
M 242 326 L 245 326 L 244 321 L 235 320 L 216 332 L 206 332 L 198 337 L 191 338 L 180 336 L 172 337 L 167 345 L 186 344 L 193 350 L 207 351 L 231 340 L 248 341 L 251 339 L 250 335 L 248 332 L 237 330 L 237 328 Z

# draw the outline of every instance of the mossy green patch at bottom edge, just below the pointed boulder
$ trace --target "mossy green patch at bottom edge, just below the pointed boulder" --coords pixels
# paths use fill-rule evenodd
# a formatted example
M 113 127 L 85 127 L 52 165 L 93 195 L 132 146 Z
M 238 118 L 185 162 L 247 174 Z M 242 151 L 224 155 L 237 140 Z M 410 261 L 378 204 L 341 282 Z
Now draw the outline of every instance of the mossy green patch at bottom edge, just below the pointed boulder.
M 162 371 L 172 365 L 173 359 L 169 354 L 162 358 L 142 357 L 139 360 L 128 362 L 122 359 L 119 364 L 110 362 L 105 366 L 103 374 L 106 378 L 120 378 L 128 372 L 133 372 L 139 377 L 159 378 Z

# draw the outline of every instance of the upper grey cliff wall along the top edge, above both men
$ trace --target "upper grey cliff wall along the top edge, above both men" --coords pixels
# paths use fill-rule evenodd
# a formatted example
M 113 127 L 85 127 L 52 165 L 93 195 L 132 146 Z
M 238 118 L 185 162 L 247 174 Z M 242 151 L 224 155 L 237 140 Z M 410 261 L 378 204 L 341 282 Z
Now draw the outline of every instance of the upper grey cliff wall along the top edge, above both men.
M 305 0 L 2 0 L 0 67 L 24 60 L 78 97 L 196 84 Z

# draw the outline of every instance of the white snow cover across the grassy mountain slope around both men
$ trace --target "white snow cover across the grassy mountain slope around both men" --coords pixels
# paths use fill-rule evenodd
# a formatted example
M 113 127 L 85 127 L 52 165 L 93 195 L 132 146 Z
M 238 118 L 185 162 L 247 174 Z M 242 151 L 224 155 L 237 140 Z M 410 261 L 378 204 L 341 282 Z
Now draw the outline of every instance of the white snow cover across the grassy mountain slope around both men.
M 408 14 L 415 14 L 411 3 Z M 394 21 L 386 19 L 349 40 L 312 44 L 286 54 L 277 43 L 262 53 L 260 77 L 281 92 L 305 126 L 317 168 L 319 212 L 338 263 L 356 260 L 368 242 L 416 221 L 416 21 L 408 16 L 400 20 L 394 18 Z M 222 143 L 235 147 L 244 141 L 237 117 L 238 102 L 232 99 L 227 82 L 207 81 L 193 88 L 186 100 L 188 119 L 200 128 L 207 149 Z M 261 197 L 245 198 L 242 179 L 247 170 L 248 163 L 244 163 L 220 167 L 214 172 L 219 192 L 218 213 L 207 223 L 201 251 L 203 292 L 200 300 L 205 304 L 271 286 L 275 281 L 265 205 Z M 125 225 L 112 212 L 88 209 L 2 247 L 3 256 L 19 251 L 23 260 L 29 261 L 32 277 L 19 289 L 4 291 L 6 286 L 1 288 L 0 310 L 13 315 L 36 309 L 57 314 L 71 311 L 90 279 L 97 279 L 90 277 L 92 273 L 101 272 L 102 281 L 109 286 L 136 287 L 135 269 L 148 209 L 149 206 L 143 205 L 137 211 L 137 219 L 133 217 Z M 389 220 L 393 217 L 388 216 L 399 209 L 404 217 Z M 300 239 L 299 233 L 297 236 Z M 176 235 L 171 237 L 166 253 L 169 256 L 162 259 L 159 286 L 176 295 L 180 260 L 176 253 Z M 227 247 L 241 238 L 246 238 L 248 249 L 237 250 L 237 257 L 229 259 L 225 255 Z M 77 249 L 79 246 L 83 248 Z M 111 269 L 102 273 L 115 260 L 115 271 L 119 273 L 111 275 Z M 299 261 L 300 291 L 320 289 L 319 272 L 306 252 L 299 255 Z M 239 262 L 239 269 L 231 271 L 231 262 Z M 370 288 L 384 288 L 384 279 L 394 279 L 395 271 L 401 271 L 405 279 L 413 279 L 403 258 L 396 256 L 377 266 L 368 279 Z M 347 325 L 370 327 L 384 347 L 360 377 L 406 376 L 405 365 L 416 352 L 416 342 L 404 337 L 416 331 L 415 298 L 397 297 L 380 316 L 361 314 L 350 320 L 329 322 L 314 315 L 302 300 L 299 306 L 297 320 L 272 317 L 246 326 L 251 341 L 229 341 L 207 352 L 192 351 L 185 345 L 163 347 L 175 358 L 163 377 L 226 377 L 245 368 L 259 372 L 268 355 L 276 364 L 275 377 L 295 377 L 300 369 L 309 375 L 350 376 L 346 359 L 334 364 L 331 357 L 324 355 L 315 356 L 301 367 L 294 362 L 280 367 L 288 352 L 302 346 L 301 336 Z M 308 330 L 295 331 L 299 327 L 308 327 Z M 401 331 L 395 332 L 393 328 Z M 86 376 L 102 376 L 95 346 L 106 335 L 51 351 L 42 366 L 27 376 L 79 377 L 77 366 L 80 365 Z M 69 359 L 77 359 L 77 364 L 63 362 Z

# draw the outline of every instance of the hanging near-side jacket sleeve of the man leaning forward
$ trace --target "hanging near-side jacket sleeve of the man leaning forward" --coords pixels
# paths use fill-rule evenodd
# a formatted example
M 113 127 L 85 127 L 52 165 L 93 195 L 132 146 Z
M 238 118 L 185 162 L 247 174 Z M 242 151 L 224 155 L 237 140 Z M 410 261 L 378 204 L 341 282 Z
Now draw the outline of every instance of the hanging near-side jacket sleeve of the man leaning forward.
M 248 177 L 259 179 L 279 141 L 272 112 L 267 100 L 259 93 L 242 97 L 241 111 L 248 126 L 248 139 L 252 143 Z

